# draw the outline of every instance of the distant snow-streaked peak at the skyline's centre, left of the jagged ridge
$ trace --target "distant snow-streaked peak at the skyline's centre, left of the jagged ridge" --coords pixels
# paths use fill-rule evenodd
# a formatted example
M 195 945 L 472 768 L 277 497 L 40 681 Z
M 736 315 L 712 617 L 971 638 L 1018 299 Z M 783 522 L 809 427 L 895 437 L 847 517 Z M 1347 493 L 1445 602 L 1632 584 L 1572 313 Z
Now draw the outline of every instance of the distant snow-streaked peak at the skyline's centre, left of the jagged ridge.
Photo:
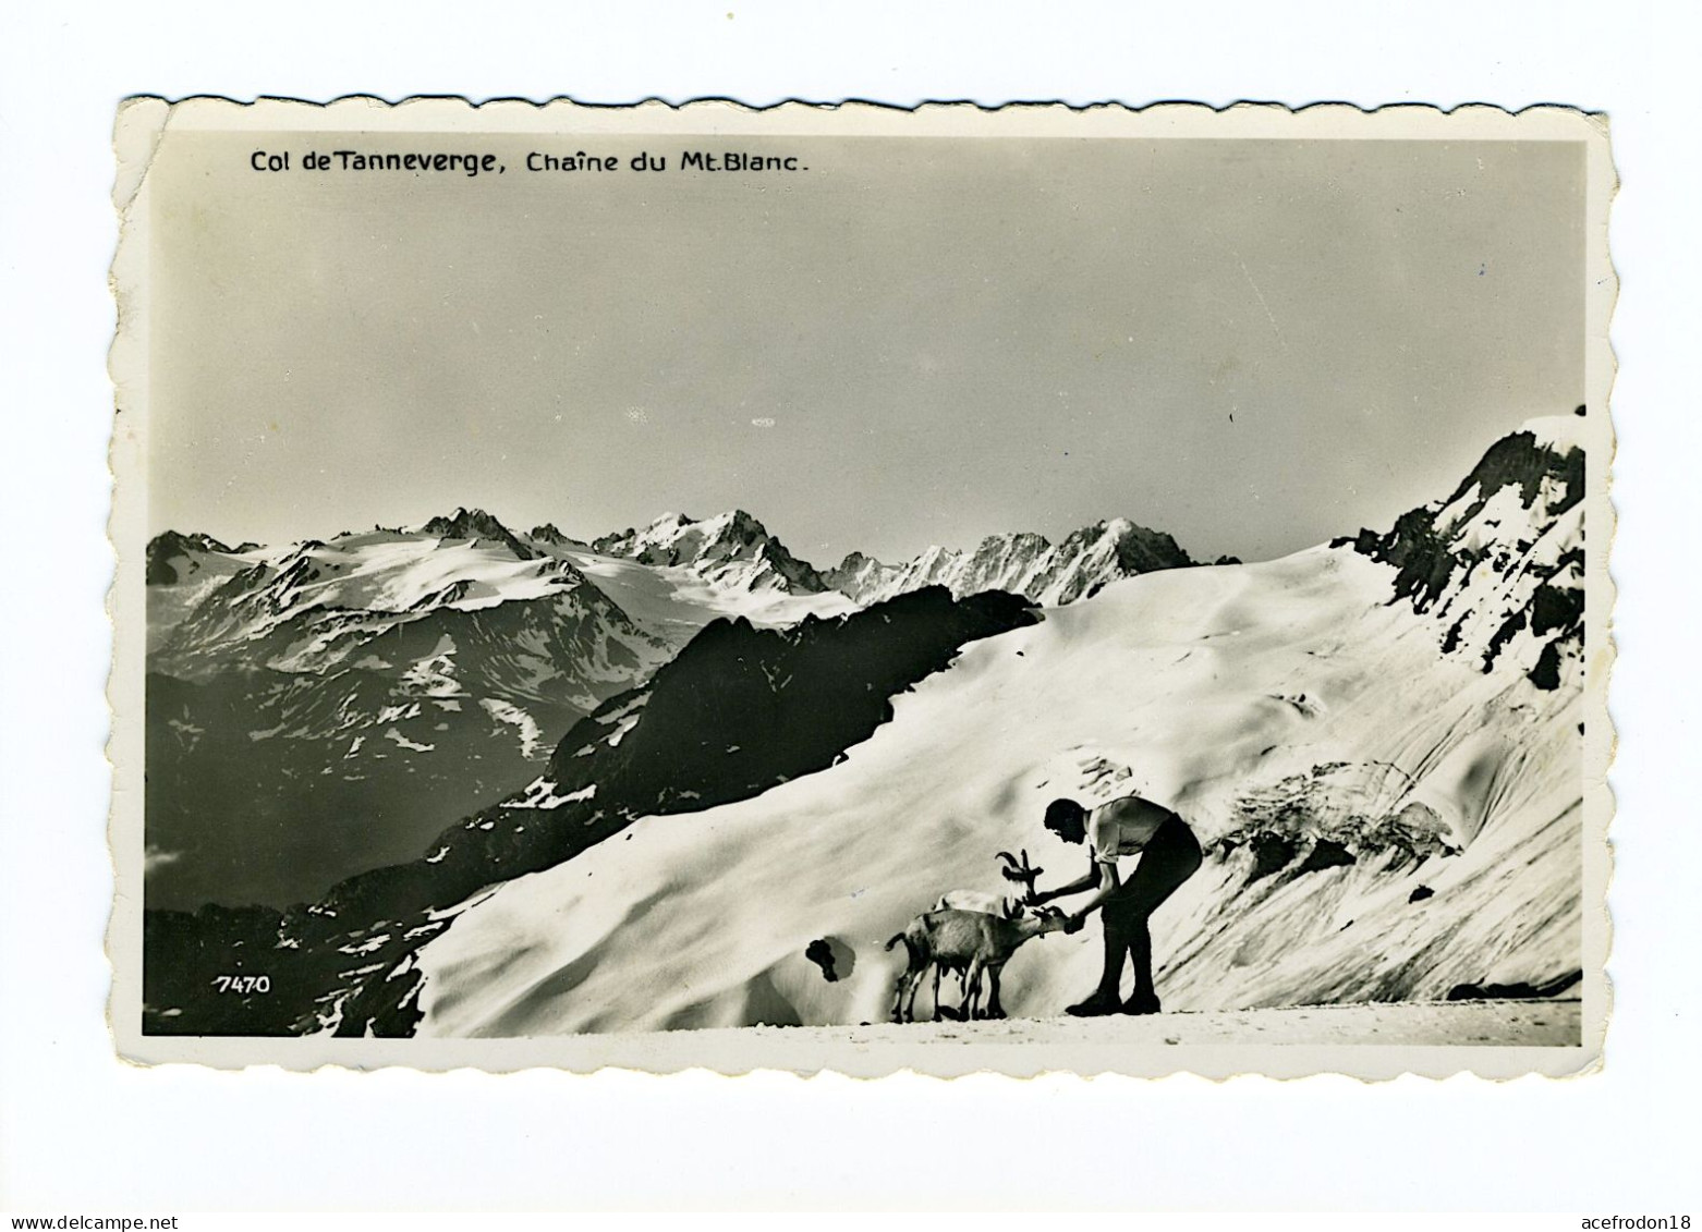
M 640 565 L 683 565 L 717 584 L 747 590 L 820 594 L 829 589 L 810 565 L 742 509 L 703 521 L 662 514 L 643 529 L 604 534 L 591 546 L 604 556 Z

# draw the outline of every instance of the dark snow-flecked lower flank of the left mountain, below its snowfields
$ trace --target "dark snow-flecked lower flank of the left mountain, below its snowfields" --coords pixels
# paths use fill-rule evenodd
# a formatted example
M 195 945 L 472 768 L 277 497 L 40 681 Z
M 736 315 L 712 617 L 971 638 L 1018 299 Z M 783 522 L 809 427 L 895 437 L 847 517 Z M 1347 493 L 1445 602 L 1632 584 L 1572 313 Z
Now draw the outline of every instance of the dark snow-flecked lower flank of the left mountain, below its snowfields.
M 558 594 L 480 609 L 441 606 L 451 585 L 380 631 L 366 613 L 310 609 L 257 640 L 231 633 L 243 628 L 233 614 L 276 606 L 303 565 L 279 579 L 257 565 L 252 590 L 231 579 L 150 660 L 148 842 L 187 853 L 150 876 L 151 907 L 284 907 L 405 859 L 536 774 L 620 687 L 589 665 L 626 679 L 643 667 L 630 648 L 642 635 L 577 575 Z M 310 638 L 347 653 L 318 670 L 274 665 Z M 531 750 L 521 720 L 536 728 Z

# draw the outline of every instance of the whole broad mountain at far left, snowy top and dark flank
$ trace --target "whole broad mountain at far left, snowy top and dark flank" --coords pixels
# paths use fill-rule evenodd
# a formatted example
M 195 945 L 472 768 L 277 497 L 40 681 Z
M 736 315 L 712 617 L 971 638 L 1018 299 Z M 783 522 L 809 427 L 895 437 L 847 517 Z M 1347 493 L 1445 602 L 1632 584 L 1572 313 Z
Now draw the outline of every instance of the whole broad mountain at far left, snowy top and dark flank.
M 407 858 L 671 653 L 478 510 L 196 577 L 150 592 L 197 587 L 148 662 L 155 905 L 281 905 Z

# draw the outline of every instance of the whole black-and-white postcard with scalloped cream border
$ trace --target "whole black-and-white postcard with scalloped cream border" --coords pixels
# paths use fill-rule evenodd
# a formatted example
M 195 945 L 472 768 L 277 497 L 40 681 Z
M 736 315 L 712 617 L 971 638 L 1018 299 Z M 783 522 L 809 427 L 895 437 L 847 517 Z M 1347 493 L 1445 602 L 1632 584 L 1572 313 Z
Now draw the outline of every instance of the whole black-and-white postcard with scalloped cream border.
M 124 1057 L 1598 1064 L 1603 117 L 116 146 Z

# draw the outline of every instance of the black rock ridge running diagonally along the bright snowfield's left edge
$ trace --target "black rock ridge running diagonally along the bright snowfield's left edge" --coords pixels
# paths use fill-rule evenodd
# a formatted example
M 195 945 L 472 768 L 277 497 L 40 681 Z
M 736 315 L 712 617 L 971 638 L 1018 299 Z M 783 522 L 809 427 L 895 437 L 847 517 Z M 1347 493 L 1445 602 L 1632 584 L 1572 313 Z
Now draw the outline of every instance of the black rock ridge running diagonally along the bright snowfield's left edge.
M 427 919 L 431 909 L 551 868 L 637 817 L 744 800 L 825 769 L 965 643 L 1035 619 L 1014 596 L 953 601 L 933 587 L 788 630 L 715 621 L 645 687 L 568 730 L 545 774 L 550 805 L 512 793 L 451 825 L 420 859 L 351 876 L 283 914 L 153 912 L 146 1030 L 218 1035 L 240 1021 L 242 1033 L 303 1033 L 334 1021 L 347 1035 L 407 1035 L 419 1019 L 412 955 L 448 926 Z M 274 980 L 242 1007 L 203 980 L 238 951 Z

